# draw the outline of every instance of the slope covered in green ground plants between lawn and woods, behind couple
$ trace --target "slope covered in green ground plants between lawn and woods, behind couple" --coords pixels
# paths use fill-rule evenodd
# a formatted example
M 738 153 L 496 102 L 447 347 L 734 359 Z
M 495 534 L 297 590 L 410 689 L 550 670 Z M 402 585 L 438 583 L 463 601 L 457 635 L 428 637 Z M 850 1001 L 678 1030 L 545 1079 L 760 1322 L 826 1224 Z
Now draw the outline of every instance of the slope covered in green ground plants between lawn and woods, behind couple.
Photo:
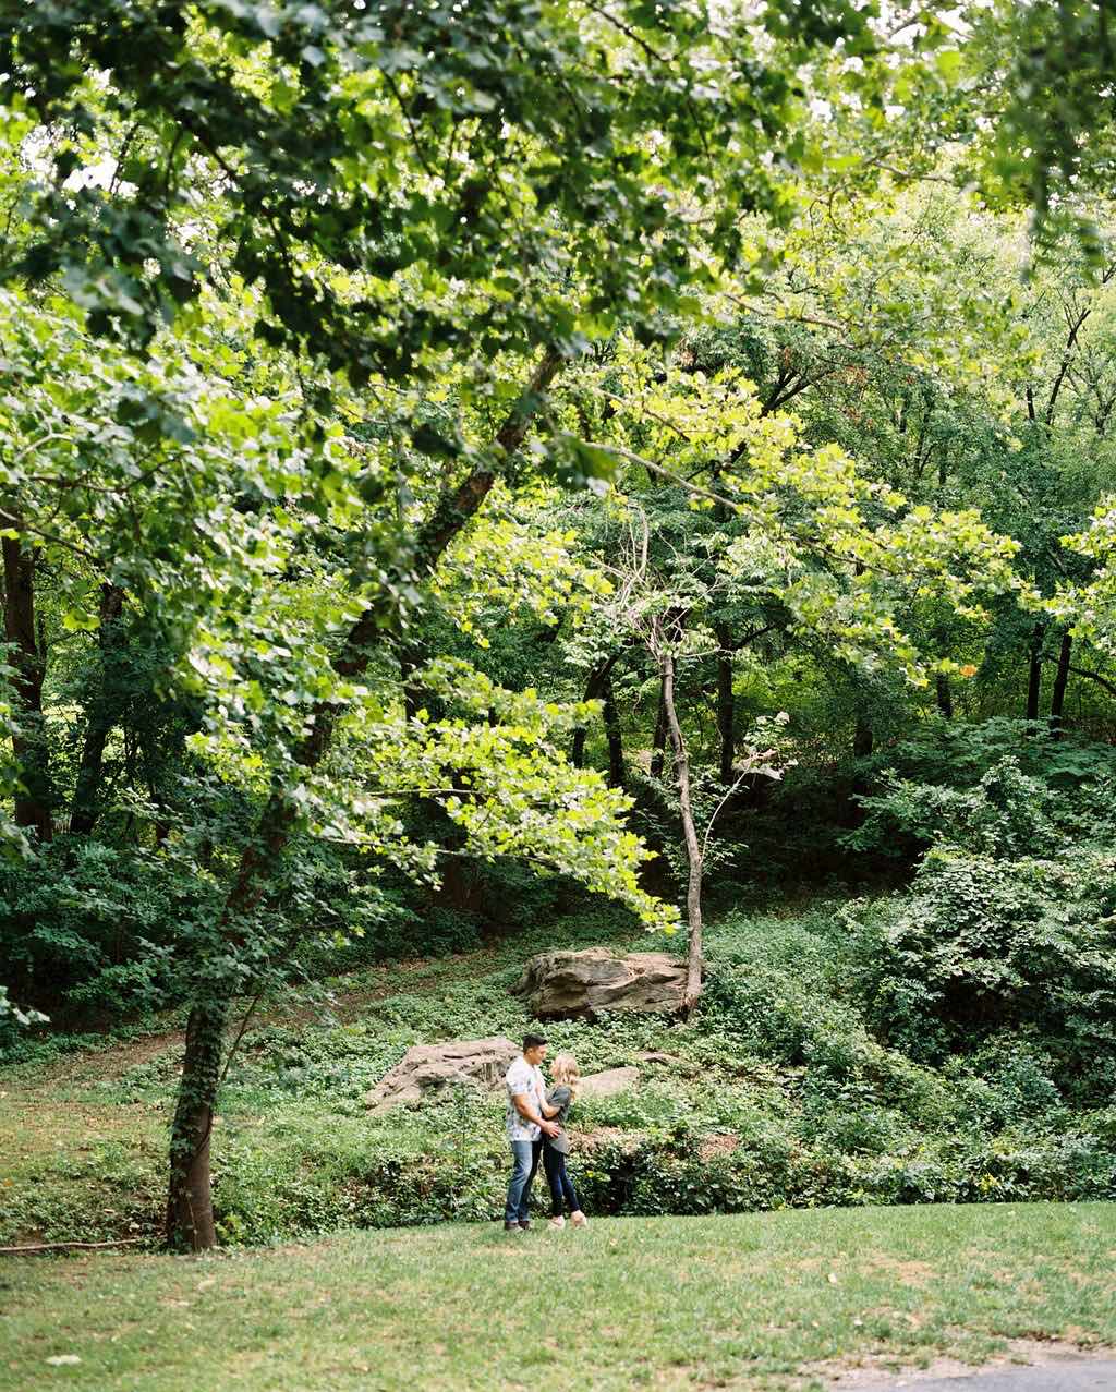
M 548 945 L 630 940 L 565 919 L 484 951 L 373 965 L 252 1018 L 214 1133 L 225 1244 L 346 1226 L 488 1219 L 507 1147 L 498 1098 L 469 1091 L 370 1118 L 367 1089 L 413 1043 L 516 1037 L 511 994 Z M 635 1090 L 579 1104 L 579 1189 L 597 1214 L 1116 1197 L 1116 1112 L 1074 1111 L 1027 1040 L 932 1069 L 864 1027 L 854 944 L 834 905 L 729 916 L 687 1023 L 616 1015 L 548 1029 L 584 1072 L 640 1062 Z M 159 1232 L 174 1033 L 0 1075 L 0 1243 Z

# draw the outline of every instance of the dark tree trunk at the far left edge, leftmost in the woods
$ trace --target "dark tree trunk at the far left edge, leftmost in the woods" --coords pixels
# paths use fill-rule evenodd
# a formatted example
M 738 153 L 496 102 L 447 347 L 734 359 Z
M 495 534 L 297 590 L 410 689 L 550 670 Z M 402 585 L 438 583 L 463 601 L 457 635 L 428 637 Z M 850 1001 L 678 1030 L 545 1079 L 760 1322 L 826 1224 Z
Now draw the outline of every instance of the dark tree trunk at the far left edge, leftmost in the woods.
M 39 841 L 54 835 L 50 757 L 43 722 L 45 654 L 35 636 L 35 554 L 19 537 L 4 537 L 4 636 L 11 644 L 19 734 L 13 753 L 22 786 L 15 793 L 15 824 L 33 830 Z

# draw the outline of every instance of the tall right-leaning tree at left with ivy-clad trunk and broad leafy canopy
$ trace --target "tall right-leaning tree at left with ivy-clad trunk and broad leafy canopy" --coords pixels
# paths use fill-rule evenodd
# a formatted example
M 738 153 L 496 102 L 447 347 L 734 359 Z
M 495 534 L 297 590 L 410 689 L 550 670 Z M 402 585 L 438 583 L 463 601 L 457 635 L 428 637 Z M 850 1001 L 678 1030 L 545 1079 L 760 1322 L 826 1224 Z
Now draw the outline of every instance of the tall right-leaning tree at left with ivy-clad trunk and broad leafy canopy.
M 110 585 L 175 633 L 167 685 L 189 670 L 206 704 L 192 748 L 257 812 L 218 867 L 216 922 L 185 954 L 174 1242 L 214 1242 L 209 1140 L 228 1002 L 273 979 L 285 940 L 267 913 L 299 837 L 359 834 L 385 857 L 424 864 L 427 848 L 406 845 L 384 807 L 433 793 L 488 853 L 545 849 L 657 920 L 636 885 L 639 848 L 616 827 L 623 799 L 589 775 L 564 784 L 550 757 L 547 721 L 561 713 L 486 688 L 488 709 L 515 718 L 486 717 L 465 735 L 447 721 L 434 738 L 422 709 L 408 722 L 373 688 L 381 658 L 398 678 L 398 649 L 438 567 L 498 483 L 544 472 L 600 489 L 639 455 L 641 441 L 603 448 L 568 429 L 559 370 L 629 331 L 668 341 L 697 308 L 689 288 L 714 285 L 725 262 L 754 260 L 747 216 L 793 216 L 799 191 L 785 170 L 820 155 L 803 70 L 835 93 L 843 81 L 878 143 L 889 96 L 939 102 L 963 63 L 932 7 L 904 15 L 921 31 L 918 52 L 871 7 L 822 14 L 778 0 L 760 25 L 710 18 L 701 6 L 668 13 L 643 0 L 39 0 L 0 14 L 8 132 L 29 152 L 25 216 L 0 274 L 65 296 L 61 310 L 61 296 L 4 301 L 19 363 L 19 390 L 0 404 L 18 441 L 0 477 L 7 541 L 18 557 L 42 547 L 81 562 L 67 579 L 75 625 L 96 626 L 95 596 Z M 1010 15 L 987 24 L 1012 42 Z M 1083 68 L 1092 99 L 1102 74 Z M 1019 110 L 1005 110 L 1010 135 Z M 957 128 L 966 122 L 980 127 L 973 110 Z M 1060 143 L 1031 157 L 1021 142 L 1027 168 L 1045 155 L 1055 175 L 1071 177 Z M 90 337 L 106 345 L 103 361 Z M 245 390 L 250 370 L 230 361 L 227 338 L 266 359 L 267 390 Z M 796 390 L 788 377 L 772 405 Z M 757 468 L 732 437 L 754 402 L 703 395 L 696 409 L 715 408 L 726 436 L 715 461 L 676 404 L 675 432 L 699 437 L 707 483 L 715 462 L 733 466 L 725 486 L 750 533 L 793 553 L 778 593 L 795 624 L 828 629 L 842 651 L 888 643 L 914 672 L 891 596 L 899 568 L 932 574 L 962 607 L 973 592 L 955 574 L 963 546 L 1001 578 L 1002 551 L 971 516 L 898 518 L 881 493 L 871 501 L 885 516 L 866 530 L 857 508 L 868 494 L 850 491 L 843 457 L 799 466 L 778 448 L 792 427 L 771 416 L 772 434 L 753 441 Z M 341 422 L 367 415 L 376 447 L 362 459 L 342 444 Z M 32 441 L 49 445 L 33 466 L 22 448 Z M 665 468 L 662 454 L 639 458 Z M 790 465 L 807 522 L 770 515 L 772 459 Z M 821 500 L 834 494 L 852 515 L 827 514 Z M 821 526 L 832 567 L 803 526 Z M 735 543 L 738 578 L 757 562 L 747 541 Z M 770 576 L 770 554 L 760 560 Z M 849 574 L 856 564 L 863 583 Z M 26 646 L 22 619 L 18 633 Z M 440 671 L 448 700 L 436 663 L 422 679 L 436 683 Z M 470 683 L 484 686 L 477 674 Z M 362 792 L 360 759 L 384 748 L 394 753 L 377 768 L 384 784 Z M 96 748 L 89 754 L 92 777 Z M 501 796 L 458 786 L 462 764 L 504 778 Z M 511 796 L 516 770 L 550 820 Z M 561 799 L 544 803 L 551 784 L 583 800 L 584 825 L 609 828 L 575 837 L 577 856 L 562 852 Z

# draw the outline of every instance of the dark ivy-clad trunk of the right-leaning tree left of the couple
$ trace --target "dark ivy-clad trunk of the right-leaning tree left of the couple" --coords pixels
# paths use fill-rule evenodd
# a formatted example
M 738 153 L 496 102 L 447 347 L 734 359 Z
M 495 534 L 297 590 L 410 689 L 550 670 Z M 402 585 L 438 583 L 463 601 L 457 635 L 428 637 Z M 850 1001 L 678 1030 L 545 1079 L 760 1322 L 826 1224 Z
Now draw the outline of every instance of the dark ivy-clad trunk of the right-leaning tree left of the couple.
M 495 445 L 504 457 L 515 454 L 522 445 L 539 406 L 540 394 L 551 384 L 561 365 L 559 355 L 547 349 L 530 384 L 497 433 Z M 410 583 L 422 583 L 430 576 L 445 548 L 484 503 L 495 477 L 490 469 L 476 469 L 458 487 L 443 494 L 416 539 L 415 560 L 408 576 Z M 398 610 L 387 608 L 390 603 L 392 601 L 385 599 L 384 607 L 370 606 L 352 625 L 340 654 L 333 661 L 340 677 L 362 675 L 376 646 L 398 635 L 402 626 L 401 618 Z M 334 707 L 320 702 L 313 709 L 309 732 L 295 756 L 302 767 L 314 768 L 321 761 L 333 741 L 334 722 Z M 231 944 L 238 942 L 244 916 L 263 899 L 269 870 L 281 859 L 296 817 L 296 806 L 287 796 L 285 788 L 276 788 L 260 817 L 256 835 L 241 855 L 221 913 L 220 931 Z M 220 1075 L 213 1059 L 214 1050 L 220 1057 L 220 1036 L 227 1011 L 227 1005 L 218 1002 L 227 1002 L 230 994 L 227 981 L 203 979 L 199 987 L 191 1009 L 191 1020 L 196 1027 L 186 1031 L 182 1077 L 171 1128 L 167 1197 L 168 1243 L 186 1244 L 195 1251 L 212 1247 L 216 1242 L 209 1139 Z M 209 1219 L 199 1221 L 206 1214 Z

